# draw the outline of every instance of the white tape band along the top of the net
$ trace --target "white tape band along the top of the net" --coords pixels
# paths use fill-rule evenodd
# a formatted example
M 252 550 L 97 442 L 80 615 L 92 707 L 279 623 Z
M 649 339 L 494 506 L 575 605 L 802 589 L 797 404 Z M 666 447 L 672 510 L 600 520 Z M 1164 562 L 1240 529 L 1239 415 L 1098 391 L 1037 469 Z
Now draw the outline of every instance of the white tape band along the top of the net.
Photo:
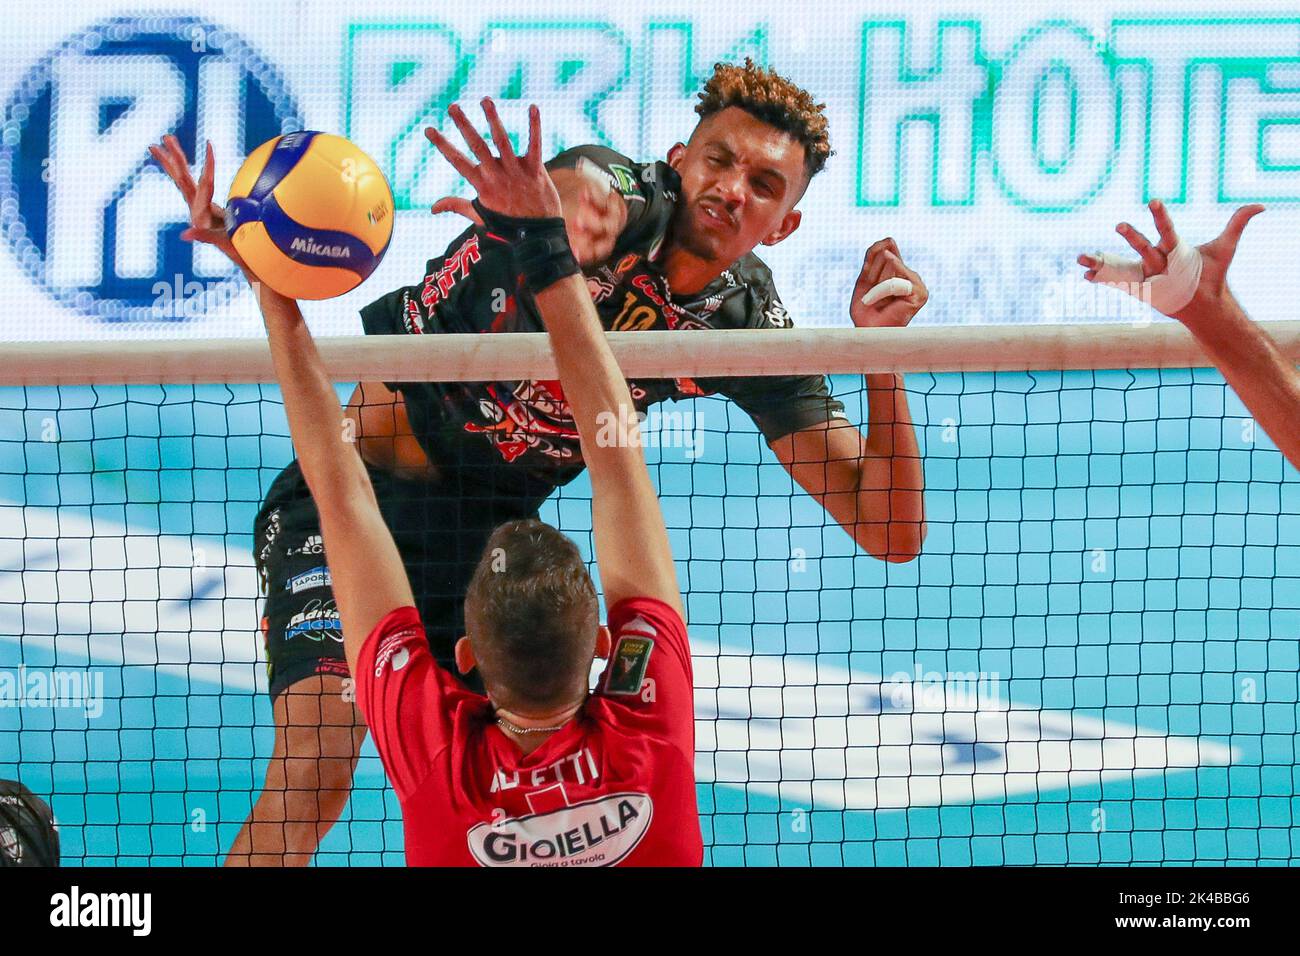
M 1300 362 L 1300 321 L 1265 325 Z M 862 372 L 1202 368 L 1182 325 L 983 325 L 905 329 L 612 332 L 629 378 Z M 317 341 L 337 381 L 524 381 L 556 377 L 541 333 L 348 336 Z M 273 382 L 263 339 L 22 342 L 4 346 L 0 385 Z

